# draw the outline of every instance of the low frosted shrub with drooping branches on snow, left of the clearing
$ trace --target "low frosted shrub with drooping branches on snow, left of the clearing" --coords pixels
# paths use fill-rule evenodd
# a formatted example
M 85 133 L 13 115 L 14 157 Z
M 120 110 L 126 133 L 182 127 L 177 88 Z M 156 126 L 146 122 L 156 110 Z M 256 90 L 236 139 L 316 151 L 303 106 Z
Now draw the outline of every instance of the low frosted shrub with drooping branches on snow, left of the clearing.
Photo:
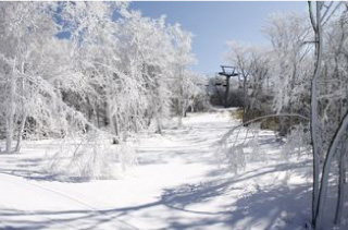
M 137 164 L 129 144 L 111 145 L 100 133 L 64 138 L 48 169 L 59 180 L 100 180 L 124 175 Z

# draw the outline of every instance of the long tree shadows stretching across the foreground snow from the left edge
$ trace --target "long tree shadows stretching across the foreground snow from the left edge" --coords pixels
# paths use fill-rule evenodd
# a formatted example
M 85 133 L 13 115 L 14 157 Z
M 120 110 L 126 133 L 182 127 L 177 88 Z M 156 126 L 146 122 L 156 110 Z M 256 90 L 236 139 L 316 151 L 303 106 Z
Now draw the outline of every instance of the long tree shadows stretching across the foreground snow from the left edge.
M 308 185 L 288 187 L 272 185 L 245 193 L 245 181 L 276 170 L 268 169 L 226 179 L 184 184 L 163 190 L 158 201 L 102 210 L 0 210 L 0 228 L 4 229 L 137 229 L 122 217 L 139 215 L 162 219 L 163 229 L 301 229 L 309 219 Z M 237 199 L 235 194 L 243 194 Z M 214 210 L 206 203 L 221 196 L 224 203 Z M 199 205 L 200 208 L 195 207 Z M 160 207 L 160 210 L 158 209 Z M 163 210 L 164 208 L 164 210 Z M 300 211 L 299 211 L 300 210 Z M 173 215 L 162 215 L 162 211 Z

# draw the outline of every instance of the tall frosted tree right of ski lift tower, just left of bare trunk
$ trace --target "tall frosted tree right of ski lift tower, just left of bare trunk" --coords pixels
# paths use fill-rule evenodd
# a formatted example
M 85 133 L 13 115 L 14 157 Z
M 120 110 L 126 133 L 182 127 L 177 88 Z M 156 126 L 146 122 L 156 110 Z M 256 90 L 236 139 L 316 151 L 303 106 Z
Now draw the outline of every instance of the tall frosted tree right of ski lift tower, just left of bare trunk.
M 308 73 L 311 69 L 307 62 L 311 31 L 309 21 L 304 15 L 274 14 L 269 17 L 263 33 L 272 44 L 271 66 L 272 82 L 274 84 L 274 110 L 276 112 L 296 112 L 303 106 L 298 97 L 308 92 Z M 307 88 L 306 88 L 307 87 Z M 303 97 L 303 96 L 302 96 Z

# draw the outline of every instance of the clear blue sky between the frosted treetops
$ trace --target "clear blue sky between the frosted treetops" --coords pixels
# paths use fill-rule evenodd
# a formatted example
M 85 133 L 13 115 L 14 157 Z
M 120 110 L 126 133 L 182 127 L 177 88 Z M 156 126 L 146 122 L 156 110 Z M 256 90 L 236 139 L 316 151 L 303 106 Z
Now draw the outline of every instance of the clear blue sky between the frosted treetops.
M 138 1 L 130 3 L 145 16 L 166 15 L 170 24 L 179 23 L 195 37 L 192 52 L 198 60 L 194 70 L 202 74 L 220 71 L 224 63 L 227 40 L 266 45 L 261 33 L 268 15 L 275 12 L 307 13 L 307 1 L 265 2 L 194 2 Z

